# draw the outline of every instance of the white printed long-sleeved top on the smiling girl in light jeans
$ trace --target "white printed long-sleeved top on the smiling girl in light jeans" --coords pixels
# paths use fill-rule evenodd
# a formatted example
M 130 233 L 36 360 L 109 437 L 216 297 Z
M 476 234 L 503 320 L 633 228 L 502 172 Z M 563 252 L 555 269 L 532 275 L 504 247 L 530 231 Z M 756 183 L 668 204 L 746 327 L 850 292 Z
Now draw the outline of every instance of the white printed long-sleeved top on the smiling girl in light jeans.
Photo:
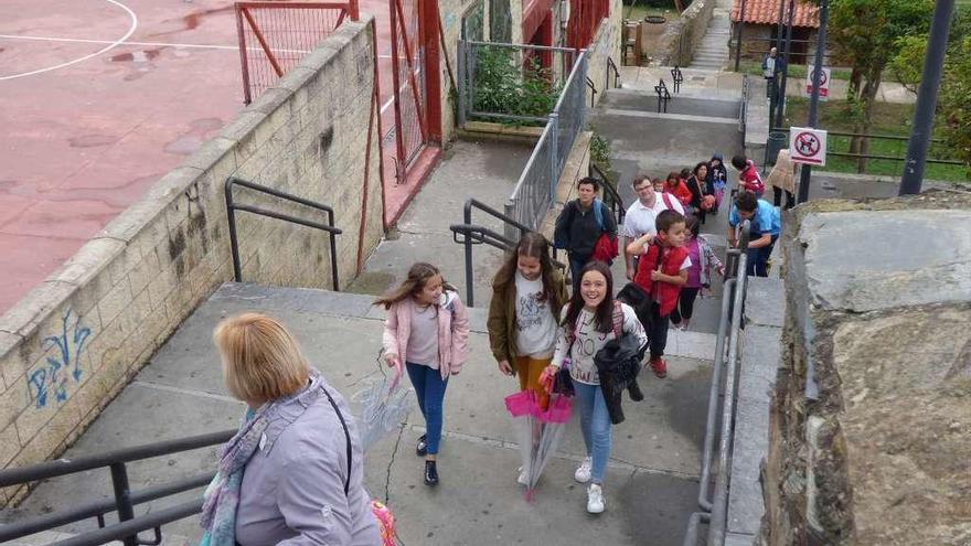
M 637 313 L 627 303 L 621 303 L 620 308 L 623 310 L 623 326 L 621 330 L 623 333 L 636 335 L 640 345 L 643 346 L 648 342 L 648 335 L 644 333 L 644 326 L 638 320 Z M 564 307 L 563 318 L 566 318 L 566 312 L 567 308 Z M 600 374 L 597 372 L 594 356 L 604 349 L 608 341 L 615 338 L 613 324 L 610 324 L 609 332 L 598 332 L 595 326 L 594 313 L 584 309 L 580 311 L 579 317 L 577 317 L 574 335 L 574 342 L 570 344 L 567 329 L 565 326 L 559 329 L 559 334 L 556 336 L 556 352 L 553 354 L 552 364 L 562 366 L 563 361 L 569 356 L 569 376 L 573 381 L 587 385 L 599 385 Z

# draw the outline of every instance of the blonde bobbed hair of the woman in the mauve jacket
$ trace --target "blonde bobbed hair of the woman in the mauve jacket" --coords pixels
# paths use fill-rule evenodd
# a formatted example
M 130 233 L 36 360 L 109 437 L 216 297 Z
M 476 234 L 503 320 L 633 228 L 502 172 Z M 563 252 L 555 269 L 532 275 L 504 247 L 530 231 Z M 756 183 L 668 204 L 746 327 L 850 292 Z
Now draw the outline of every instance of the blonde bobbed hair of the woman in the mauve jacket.
M 310 366 L 297 340 L 276 319 L 260 313 L 231 317 L 216 325 L 213 342 L 226 387 L 241 400 L 275 400 L 307 383 Z

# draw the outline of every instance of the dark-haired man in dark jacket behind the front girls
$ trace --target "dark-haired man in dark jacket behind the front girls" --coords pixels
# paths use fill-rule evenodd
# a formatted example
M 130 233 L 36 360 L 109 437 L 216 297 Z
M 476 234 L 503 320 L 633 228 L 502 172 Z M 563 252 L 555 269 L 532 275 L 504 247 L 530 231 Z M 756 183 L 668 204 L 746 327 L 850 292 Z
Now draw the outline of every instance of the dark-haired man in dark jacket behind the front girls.
M 579 285 L 579 272 L 594 255 L 594 247 L 602 234 L 617 237 L 617 223 L 604 203 L 597 199 L 600 182 L 585 178 L 577 182 L 577 199 L 563 207 L 556 218 L 554 244 L 569 255 L 569 272 L 574 286 Z

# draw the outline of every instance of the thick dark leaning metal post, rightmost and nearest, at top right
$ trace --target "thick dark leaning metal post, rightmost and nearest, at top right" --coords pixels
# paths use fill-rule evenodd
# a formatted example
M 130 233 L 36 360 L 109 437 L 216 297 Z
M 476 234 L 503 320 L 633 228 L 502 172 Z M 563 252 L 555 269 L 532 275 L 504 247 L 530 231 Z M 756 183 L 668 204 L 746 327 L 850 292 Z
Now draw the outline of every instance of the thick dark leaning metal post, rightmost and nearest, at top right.
M 954 0 L 937 0 L 933 7 L 933 22 L 930 26 L 930 42 L 924 56 L 924 74 L 917 89 L 917 108 L 914 110 L 914 124 L 910 140 L 907 143 L 907 161 L 904 163 L 904 176 L 900 179 L 900 195 L 920 193 L 924 182 L 924 165 L 927 161 L 927 149 L 930 147 L 930 135 L 933 129 L 933 110 L 937 108 L 937 93 L 940 87 L 945 53 L 948 47 L 948 31 L 954 13 Z

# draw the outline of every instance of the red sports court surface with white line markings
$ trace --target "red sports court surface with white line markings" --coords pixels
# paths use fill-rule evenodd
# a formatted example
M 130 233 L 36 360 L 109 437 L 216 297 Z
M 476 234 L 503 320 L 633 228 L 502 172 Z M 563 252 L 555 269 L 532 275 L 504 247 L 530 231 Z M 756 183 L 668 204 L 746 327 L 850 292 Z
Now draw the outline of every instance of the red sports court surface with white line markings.
M 387 2 L 361 11 L 387 132 Z M 230 0 L 0 2 L 0 314 L 216 135 L 242 88 Z

